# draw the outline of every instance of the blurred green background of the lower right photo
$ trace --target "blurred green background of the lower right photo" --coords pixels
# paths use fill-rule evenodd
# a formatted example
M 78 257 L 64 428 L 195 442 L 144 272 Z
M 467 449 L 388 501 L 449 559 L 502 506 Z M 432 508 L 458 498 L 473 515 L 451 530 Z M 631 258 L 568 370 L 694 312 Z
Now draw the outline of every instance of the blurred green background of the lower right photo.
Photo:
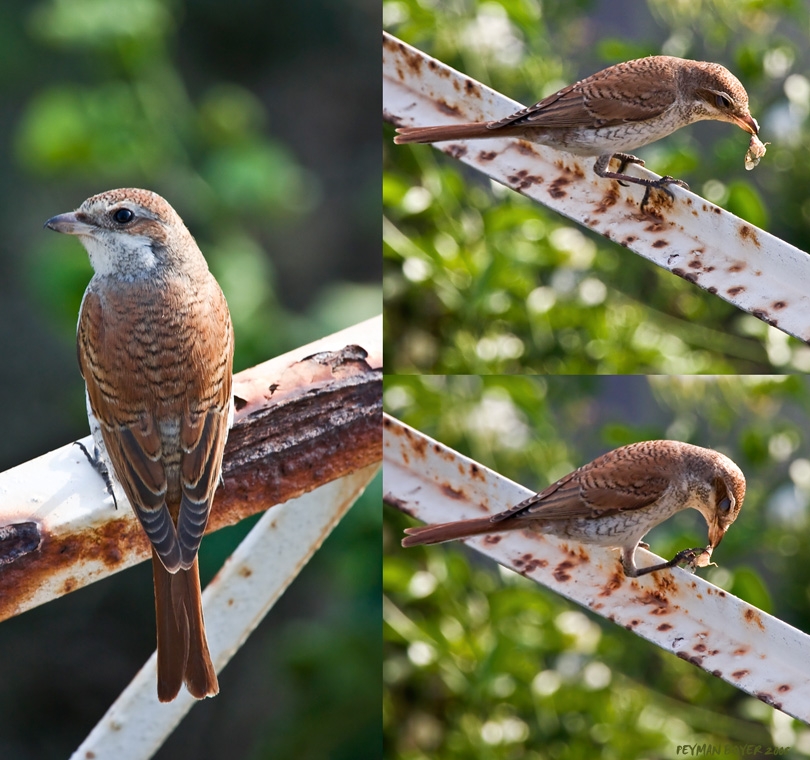
M 389 376 L 384 401 L 536 491 L 634 441 L 722 451 L 745 473 L 745 503 L 718 566 L 698 574 L 810 631 L 808 378 Z M 674 758 L 680 745 L 725 756 L 732 744 L 810 756 L 805 724 L 464 545 L 402 549 L 412 524 L 385 508 L 386 758 Z M 646 540 L 669 559 L 706 535 L 689 509 Z M 791 749 L 767 751 L 780 747 Z

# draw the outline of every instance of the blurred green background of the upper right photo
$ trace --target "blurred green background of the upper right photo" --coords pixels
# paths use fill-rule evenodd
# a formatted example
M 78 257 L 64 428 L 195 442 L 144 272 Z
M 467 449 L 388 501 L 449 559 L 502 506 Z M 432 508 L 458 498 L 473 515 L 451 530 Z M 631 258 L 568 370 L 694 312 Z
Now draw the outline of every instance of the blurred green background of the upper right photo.
M 692 125 L 638 155 L 810 250 L 810 6 L 778 0 L 386 0 L 384 28 L 532 104 L 651 54 L 743 82 L 770 142 Z M 810 348 L 385 125 L 386 366 L 392 373 L 806 372 Z

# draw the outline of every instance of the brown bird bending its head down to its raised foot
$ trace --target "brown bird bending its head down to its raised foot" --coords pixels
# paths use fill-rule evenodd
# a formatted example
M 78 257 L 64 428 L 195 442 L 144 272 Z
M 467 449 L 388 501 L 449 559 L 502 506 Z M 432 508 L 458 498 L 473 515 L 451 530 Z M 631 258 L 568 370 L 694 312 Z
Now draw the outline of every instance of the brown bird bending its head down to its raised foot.
M 727 456 L 679 441 L 642 441 L 603 454 L 492 517 L 407 528 L 402 545 L 527 529 L 620 548 L 625 575 L 634 578 L 710 555 L 740 514 L 744 497 L 745 476 Z M 642 537 L 687 507 L 706 518 L 709 547 L 685 549 L 670 562 L 637 568 Z

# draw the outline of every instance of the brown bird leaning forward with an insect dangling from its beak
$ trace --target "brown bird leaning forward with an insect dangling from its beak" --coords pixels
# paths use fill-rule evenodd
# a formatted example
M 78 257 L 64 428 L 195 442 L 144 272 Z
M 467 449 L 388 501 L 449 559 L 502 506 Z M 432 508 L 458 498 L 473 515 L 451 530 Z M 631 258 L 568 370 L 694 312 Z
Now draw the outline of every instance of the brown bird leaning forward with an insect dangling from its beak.
M 654 55 L 603 69 L 505 119 L 401 127 L 394 142 L 520 137 L 579 156 L 598 156 L 594 171 L 600 177 L 644 185 L 648 192 L 651 187 L 669 192 L 667 185 L 686 183 L 669 176 L 649 180 L 624 173 L 628 163 L 644 165 L 630 151 L 706 119 L 759 133 L 748 110 L 748 93 L 728 69 Z M 620 161 L 618 172 L 609 171 L 612 158 Z

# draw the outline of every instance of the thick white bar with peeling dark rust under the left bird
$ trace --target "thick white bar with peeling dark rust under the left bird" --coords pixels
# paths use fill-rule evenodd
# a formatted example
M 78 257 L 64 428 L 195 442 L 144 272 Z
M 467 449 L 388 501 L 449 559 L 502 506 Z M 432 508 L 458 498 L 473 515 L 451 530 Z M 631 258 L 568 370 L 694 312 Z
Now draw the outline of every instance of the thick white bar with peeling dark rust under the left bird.
M 209 531 L 380 461 L 382 319 L 240 372 L 234 393 Z M 150 556 L 118 501 L 73 444 L 0 473 L 0 620 Z

